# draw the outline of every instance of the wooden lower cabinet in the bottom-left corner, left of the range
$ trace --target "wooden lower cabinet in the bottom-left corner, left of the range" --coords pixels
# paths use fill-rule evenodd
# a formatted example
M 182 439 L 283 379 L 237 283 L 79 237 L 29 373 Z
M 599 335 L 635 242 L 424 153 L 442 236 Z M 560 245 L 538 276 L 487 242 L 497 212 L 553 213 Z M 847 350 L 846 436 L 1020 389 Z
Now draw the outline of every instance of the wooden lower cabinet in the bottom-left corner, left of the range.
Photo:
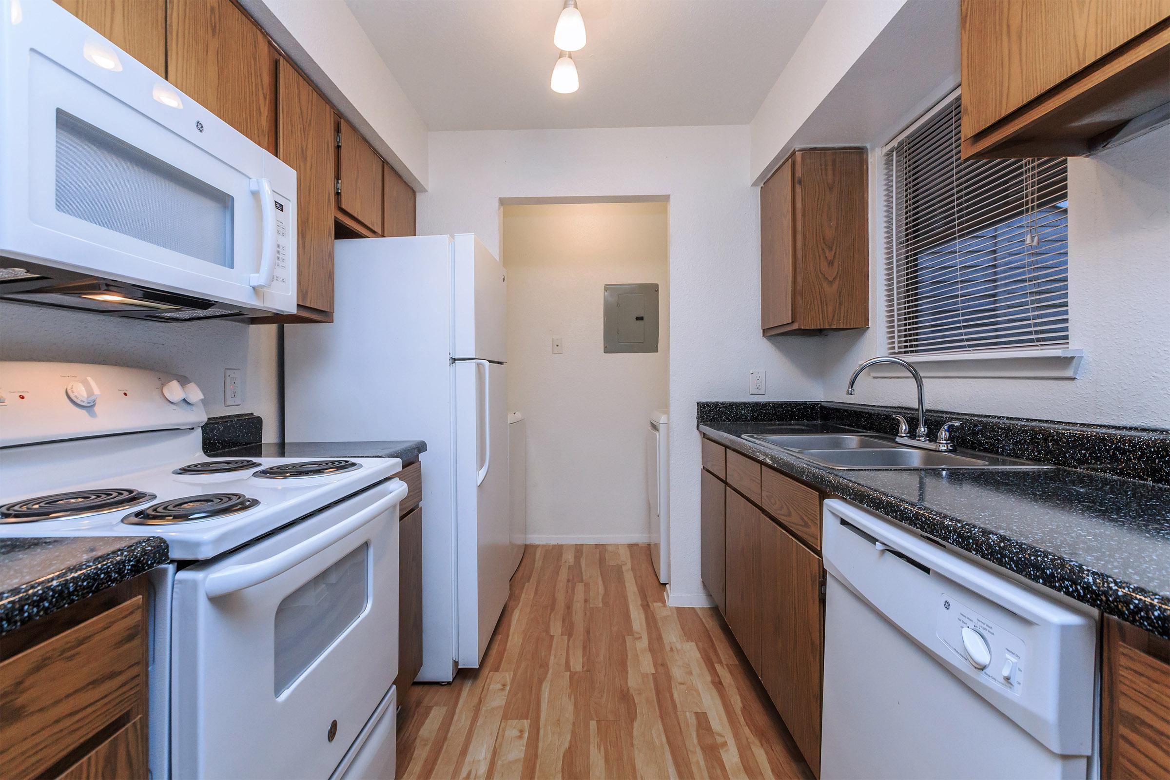
M 0 778 L 147 775 L 145 575 L 0 637 Z

